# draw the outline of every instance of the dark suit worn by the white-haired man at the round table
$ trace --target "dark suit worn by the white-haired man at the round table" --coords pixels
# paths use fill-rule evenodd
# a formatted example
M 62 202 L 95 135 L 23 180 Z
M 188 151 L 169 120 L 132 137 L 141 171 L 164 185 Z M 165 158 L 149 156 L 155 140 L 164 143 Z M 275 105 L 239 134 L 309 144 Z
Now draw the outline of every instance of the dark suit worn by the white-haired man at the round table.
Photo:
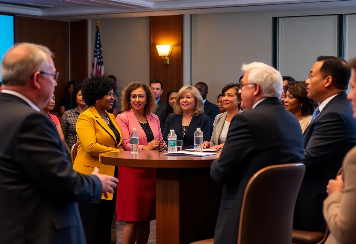
M 267 98 L 235 115 L 220 157 L 210 167 L 214 181 L 224 184 L 214 244 L 237 243 L 242 199 L 253 174 L 270 165 L 302 160 L 302 129 L 278 98 Z

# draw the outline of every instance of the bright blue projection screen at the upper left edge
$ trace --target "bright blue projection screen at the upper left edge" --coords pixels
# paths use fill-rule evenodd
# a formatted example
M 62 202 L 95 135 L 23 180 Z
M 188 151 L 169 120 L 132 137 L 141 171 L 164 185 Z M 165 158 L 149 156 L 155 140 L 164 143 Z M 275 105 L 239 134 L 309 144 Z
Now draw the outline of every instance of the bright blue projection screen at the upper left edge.
M 11 46 L 14 45 L 14 16 L 0 14 L 0 23 L 1 23 L 1 37 L 0 37 L 0 62 L 1 62 L 5 52 Z M 0 81 L 1 81 L 1 75 L 0 75 Z

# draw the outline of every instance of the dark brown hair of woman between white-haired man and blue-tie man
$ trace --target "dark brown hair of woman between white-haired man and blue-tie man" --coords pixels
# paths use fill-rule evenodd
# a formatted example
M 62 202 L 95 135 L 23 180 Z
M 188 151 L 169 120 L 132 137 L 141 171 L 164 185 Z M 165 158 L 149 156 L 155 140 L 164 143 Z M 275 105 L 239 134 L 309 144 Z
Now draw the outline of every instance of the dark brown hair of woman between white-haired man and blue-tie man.
M 305 81 L 288 81 L 284 87 L 284 94 L 287 94 L 287 91 L 302 103 L 300 110 L 303 116 L 312 115 L 315 108 L 318 107 L 318 102 L 307 97 L 307 84 Z

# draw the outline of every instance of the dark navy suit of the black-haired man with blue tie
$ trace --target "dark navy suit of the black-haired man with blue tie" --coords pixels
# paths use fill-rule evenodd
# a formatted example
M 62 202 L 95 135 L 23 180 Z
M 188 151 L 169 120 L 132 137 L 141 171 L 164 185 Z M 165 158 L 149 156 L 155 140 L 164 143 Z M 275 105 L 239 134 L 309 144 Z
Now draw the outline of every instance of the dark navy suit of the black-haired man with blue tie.
M 356 120 L 346 92 L 334 97 L 304 132 L 305 176 L 295 204 L 293 228 L 325 231 L 326 185 L 356 145 Z

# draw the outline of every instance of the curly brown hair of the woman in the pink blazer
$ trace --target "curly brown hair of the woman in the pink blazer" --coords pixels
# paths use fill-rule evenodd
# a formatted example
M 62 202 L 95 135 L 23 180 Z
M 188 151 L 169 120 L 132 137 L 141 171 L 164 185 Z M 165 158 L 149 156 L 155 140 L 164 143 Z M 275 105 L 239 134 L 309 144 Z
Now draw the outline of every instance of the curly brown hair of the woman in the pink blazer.
M 121 110 L 125 112 L 131 108 L 131 93 L 137 88 L 142 88 L 146 92 L 145 113 L 154 113 L 157 108 L 156 98 L 151 88 L 141 82 L 131 82 L 121 93 Z

